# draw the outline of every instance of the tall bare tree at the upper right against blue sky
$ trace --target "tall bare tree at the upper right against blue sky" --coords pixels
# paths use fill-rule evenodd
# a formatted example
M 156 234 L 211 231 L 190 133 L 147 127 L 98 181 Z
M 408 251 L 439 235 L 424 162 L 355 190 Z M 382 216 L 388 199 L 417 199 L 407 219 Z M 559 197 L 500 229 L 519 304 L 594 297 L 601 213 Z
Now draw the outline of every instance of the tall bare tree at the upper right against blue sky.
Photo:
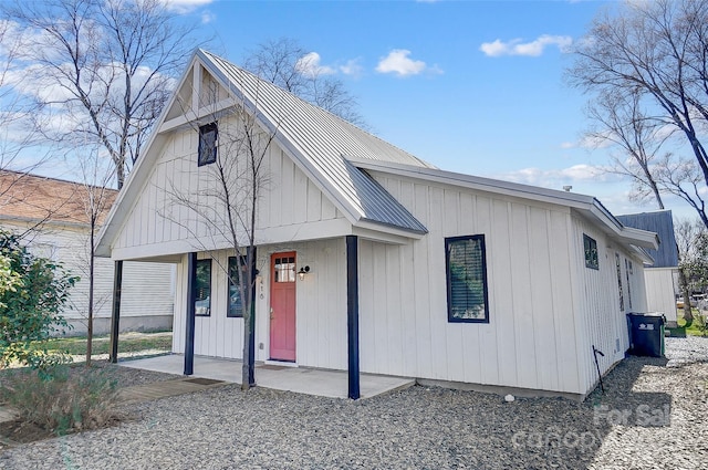
M 616 13 L 605 11 L 595 19 L 577 43 L 569 77 L 598 96 L 633 91 L 637 105 L 650 113 L 635 116 L 643 126 L 653 121 L 647 128 L 669 126 L 674 136 L 683 136 L 680 144 L 694 155 L 700 175 L 695 182 L 702 190 L 708 184 L 708 154 L 701 142 L 708 124 L 706 51 L 708 0 L 626 1 Z M 665 166 L 665 170 L 670 168 Z M 673 176 L 668 186 L 676 189 L 676 182 Z M 701 219 L 708 221 L 705 213 Z

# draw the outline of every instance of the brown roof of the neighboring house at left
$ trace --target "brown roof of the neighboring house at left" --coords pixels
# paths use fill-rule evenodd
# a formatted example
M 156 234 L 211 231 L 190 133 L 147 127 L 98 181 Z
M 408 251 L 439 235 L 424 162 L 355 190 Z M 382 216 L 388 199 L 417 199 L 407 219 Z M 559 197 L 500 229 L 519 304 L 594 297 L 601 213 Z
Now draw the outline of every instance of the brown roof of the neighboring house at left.
M 103 188 L 56 178 L 0 170 L 0 219 L 88 224 L 90 191 L 98 197 Z M 105 189 L 105 203 L 98 217 L 103 223 L 118 191 Z

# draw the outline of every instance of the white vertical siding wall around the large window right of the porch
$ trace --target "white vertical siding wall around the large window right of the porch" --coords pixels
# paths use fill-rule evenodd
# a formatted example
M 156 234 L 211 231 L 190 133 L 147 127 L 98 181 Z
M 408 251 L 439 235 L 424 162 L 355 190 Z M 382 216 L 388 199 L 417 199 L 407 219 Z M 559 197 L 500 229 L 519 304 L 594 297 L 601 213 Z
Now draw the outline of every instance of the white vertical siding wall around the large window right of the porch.
M 361 241 L 362 370 L 584 393 L 574 357 L 570 210 L 374 177 L 429 233 L 406 246 Z M 485 234 L 490 322 L 448 323 L 445 238 L 471 234 Z

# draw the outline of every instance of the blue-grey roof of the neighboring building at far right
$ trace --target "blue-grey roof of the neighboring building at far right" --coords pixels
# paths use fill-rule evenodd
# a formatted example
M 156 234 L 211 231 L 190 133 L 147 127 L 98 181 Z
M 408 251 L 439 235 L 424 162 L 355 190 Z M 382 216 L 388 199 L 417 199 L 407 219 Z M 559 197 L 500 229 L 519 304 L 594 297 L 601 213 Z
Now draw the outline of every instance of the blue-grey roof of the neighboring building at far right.
M 617 216 L 625 227 L 648 230 L 656 232 L 659 237 L 659 248 L 647 250 L 654 258 L 652 268 L 676 268 L 678 267 L 678 247 L 674 233 L 674 218 L 670 210 L 659 210 L 655 212 L 627 213 Z

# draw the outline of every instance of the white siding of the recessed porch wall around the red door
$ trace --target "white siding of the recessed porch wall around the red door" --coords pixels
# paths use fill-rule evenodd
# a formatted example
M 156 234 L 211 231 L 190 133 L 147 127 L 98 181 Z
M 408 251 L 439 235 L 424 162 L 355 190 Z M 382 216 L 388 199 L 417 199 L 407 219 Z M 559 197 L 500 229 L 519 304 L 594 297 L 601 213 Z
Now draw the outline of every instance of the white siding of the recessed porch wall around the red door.
M 345 369 L 346 357 L 346 257 L 344 239 L 258 247 L 256 284 L 256 361 L 268 361 L 270 351 L 270 255 L 295 251 L 298 265 L 309 265 L 303 281 L 295 281 L 296 364 Z M 243 318 L 227 317 L 228 278 L 223 267 L 232 252 L 202 252 L 211 258 L 211 314 L 197 316 L 195 354 L 241 358 Z M 173 351 L 185 351 L 187 261 L 178 265 Z

